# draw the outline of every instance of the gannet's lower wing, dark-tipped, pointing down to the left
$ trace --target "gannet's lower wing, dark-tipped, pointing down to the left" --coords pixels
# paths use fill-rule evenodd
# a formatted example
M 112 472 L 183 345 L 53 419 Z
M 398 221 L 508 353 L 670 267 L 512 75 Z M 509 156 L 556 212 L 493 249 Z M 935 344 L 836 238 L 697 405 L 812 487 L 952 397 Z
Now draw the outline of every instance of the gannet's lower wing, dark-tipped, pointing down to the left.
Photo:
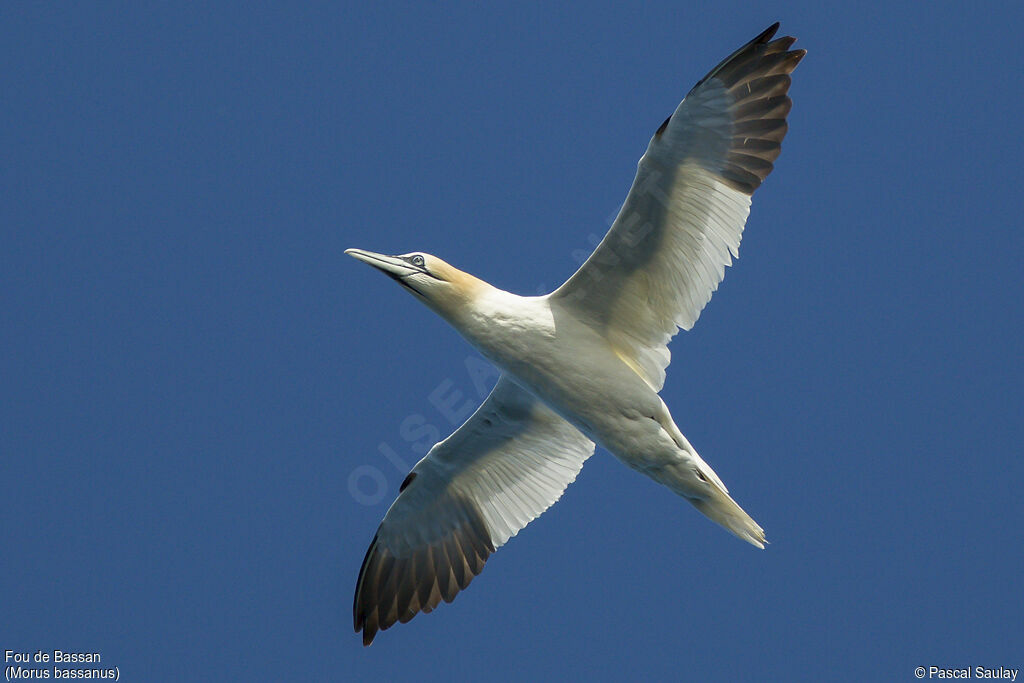
M 355 631 L 451 602 L 483 563 L 557 501 L 594 443 L 506 377 L 409 473 L 362 560 Z

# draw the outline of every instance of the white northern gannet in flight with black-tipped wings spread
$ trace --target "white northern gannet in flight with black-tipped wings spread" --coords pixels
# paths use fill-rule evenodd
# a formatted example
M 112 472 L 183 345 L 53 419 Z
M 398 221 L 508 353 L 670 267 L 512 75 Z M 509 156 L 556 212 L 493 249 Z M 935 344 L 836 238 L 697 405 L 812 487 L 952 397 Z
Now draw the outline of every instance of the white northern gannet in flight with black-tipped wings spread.
M 693 327 L 738 256 L 751 196 L 786 132 L 806 53 L 778 24 L 726 57 L 660 125 L 604 240 L 546 296 L 492 287 L 436 256 L 345 253 L 447 321 L 501 370 L 490 395 L 399 487 L 355 587 L 355 631 L 451 602 L 557 501 L 595 442 L 740 539 L 765 536 L 658 396 L 669 340 Z

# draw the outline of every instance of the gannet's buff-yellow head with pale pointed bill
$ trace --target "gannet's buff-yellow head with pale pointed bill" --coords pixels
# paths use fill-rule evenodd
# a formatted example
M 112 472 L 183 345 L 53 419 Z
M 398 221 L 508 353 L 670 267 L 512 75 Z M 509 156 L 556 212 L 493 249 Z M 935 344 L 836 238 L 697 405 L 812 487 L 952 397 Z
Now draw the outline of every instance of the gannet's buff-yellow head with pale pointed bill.
M 457 316 L 486 287 L 483 281 L 423 252 L 385 256 L 346 249 L 345 253 L 374 266 L 449 319 Z

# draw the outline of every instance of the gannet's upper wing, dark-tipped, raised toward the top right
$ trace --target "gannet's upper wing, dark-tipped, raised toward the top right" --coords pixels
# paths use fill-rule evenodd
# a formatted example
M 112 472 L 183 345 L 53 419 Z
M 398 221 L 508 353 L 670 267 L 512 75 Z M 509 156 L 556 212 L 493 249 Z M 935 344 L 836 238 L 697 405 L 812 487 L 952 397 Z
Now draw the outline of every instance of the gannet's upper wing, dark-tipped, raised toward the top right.
M 713 69 L 654 133 L 611 229 L 552 294 L 659 390 L 669 340 L 693 327 L 738 256 L 751 195 L 772 170 L 806 53 L 775 24 Z

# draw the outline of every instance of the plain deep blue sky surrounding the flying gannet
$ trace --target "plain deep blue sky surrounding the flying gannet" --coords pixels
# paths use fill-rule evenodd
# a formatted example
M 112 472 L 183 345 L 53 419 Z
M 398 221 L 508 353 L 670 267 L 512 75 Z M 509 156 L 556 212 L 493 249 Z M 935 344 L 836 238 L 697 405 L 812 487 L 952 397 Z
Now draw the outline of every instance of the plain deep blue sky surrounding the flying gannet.
M 425 4 L 0 8 L 0 648 L 148 681 L 1024 667 L 1022 5 Z M 776 19 L 790 134 L 663 391 L 772 545 L 598 451 L 364 649 L 411 427 L 494 376 L 343 250 L 556 287 Z

